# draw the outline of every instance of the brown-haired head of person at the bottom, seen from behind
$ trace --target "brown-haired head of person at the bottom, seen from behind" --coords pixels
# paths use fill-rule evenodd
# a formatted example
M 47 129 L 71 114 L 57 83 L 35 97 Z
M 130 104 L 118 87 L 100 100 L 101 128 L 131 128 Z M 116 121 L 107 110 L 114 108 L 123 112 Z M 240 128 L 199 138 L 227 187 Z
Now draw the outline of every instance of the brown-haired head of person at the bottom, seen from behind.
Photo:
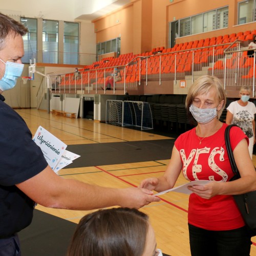
M 136 209 L 111 208 L 84 216 L 67 256 L 160 256 L 148 216 Z

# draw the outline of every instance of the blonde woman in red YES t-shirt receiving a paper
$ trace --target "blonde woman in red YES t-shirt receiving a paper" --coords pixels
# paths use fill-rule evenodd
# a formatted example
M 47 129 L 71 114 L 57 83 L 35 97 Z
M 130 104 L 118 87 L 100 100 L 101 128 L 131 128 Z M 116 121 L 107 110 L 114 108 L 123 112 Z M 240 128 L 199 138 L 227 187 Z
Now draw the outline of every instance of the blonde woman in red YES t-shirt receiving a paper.
M 180 173 L 188 181 L 188 230 L 192 256 L 249 256 L 251 234 L 232 195 L 256 190 L 256 172 L 248 151 L 248 138 L 240 127 L 230 130 L 231 148 L 241 178 L 234 176 L 225 144 L 226 123 L 219 121 L 226 103 L 223 85 L 215 76 L 201 76 L 189 88 L 186 108 L 197 126 L 175 141 L 165 173 L 140 183 L 158 192 L 173 188 Z

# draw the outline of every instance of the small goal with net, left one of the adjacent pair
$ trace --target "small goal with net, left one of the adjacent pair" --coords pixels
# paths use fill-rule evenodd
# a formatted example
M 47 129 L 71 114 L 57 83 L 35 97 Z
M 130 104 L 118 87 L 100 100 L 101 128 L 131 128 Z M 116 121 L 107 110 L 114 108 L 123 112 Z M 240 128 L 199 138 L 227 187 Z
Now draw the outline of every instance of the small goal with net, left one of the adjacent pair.
M 122 125 L 122 100 L 106 100 L 106 123 Z

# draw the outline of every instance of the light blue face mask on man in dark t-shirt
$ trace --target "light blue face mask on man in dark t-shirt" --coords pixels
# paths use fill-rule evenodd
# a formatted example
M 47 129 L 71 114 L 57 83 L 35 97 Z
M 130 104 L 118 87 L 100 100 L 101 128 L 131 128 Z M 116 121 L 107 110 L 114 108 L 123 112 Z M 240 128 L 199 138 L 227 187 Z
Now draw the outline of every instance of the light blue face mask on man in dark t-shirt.
M 4 62 L 2 59 L 0 60 Z M 15 86 L 16 80 L 22 75 L 24 68 L 24 64 L 14 63 L 11 61 L 6 61 L 4 63 L 5 74 L 2 79 L 0 79 L 0 90 L 3 92 L 12 89 Z

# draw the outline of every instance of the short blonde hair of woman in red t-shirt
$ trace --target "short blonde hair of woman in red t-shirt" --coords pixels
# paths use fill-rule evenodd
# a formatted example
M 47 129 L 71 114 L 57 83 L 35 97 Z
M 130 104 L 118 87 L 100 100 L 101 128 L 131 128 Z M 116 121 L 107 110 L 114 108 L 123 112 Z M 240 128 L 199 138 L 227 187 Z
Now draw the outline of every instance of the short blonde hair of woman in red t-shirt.
M 189 112 L 189 106 L 193 103 L 196 96 L 206 94 L 211 88 L 215 88 L 219 102 L 224 100 L 222 108 L 217 112 L 218 119 L 220 118 L 223 109 L 226 105 L 226 93 L 223 88 L 221 80 L 216 76 L 204 75 L 199 77 L 189 88 L 186 97 L 186 109 Z

